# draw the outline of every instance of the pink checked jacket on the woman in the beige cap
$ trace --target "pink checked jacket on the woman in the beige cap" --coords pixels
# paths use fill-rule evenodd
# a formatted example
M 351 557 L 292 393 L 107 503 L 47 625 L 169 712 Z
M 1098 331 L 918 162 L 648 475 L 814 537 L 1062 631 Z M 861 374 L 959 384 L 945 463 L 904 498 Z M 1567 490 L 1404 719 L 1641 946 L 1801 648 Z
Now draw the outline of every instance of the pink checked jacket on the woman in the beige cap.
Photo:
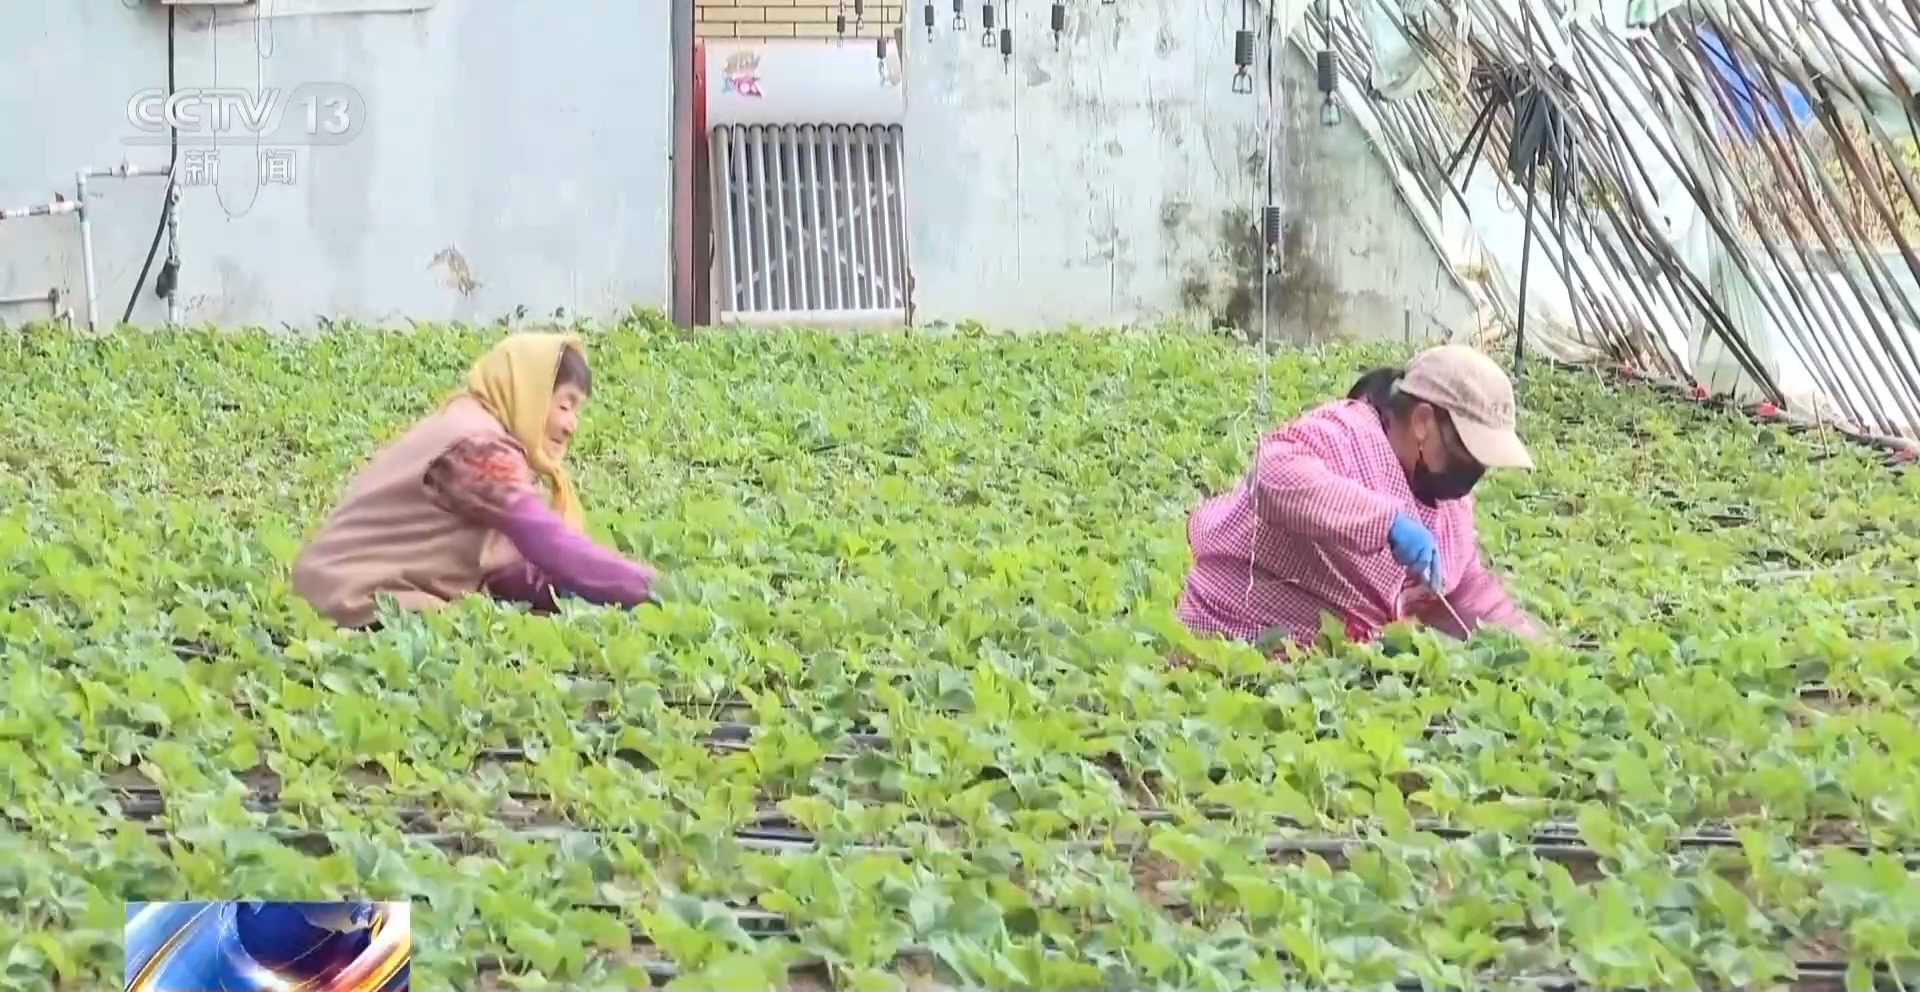
M 1442 589 L 1469 627 L 1532 629 L 1480 560 L 1473 497 L 1432 508 L 1413 499 L 1365 401 L 1327 403 L 1261 437 L 1254 482 L 1208 499 L 1187 520 L 1194 562 L 1179 618 L 1190 629 L 1252 641 L 1279 627 L 1308 643 L 1329 610 L 1356 641 L 1409 616 L 1465 633 L 1386 549 L 1398 512 L 1432 531 Z

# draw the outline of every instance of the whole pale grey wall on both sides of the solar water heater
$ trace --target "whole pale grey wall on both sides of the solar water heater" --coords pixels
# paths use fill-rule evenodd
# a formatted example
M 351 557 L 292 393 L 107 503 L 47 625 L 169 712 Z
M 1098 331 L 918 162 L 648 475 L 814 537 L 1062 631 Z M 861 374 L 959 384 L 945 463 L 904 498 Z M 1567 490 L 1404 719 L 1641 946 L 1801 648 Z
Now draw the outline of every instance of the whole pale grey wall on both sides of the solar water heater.
M 186 319 L 307 326 L 664 307 L 668 0 L 411 2 L 432 8 L 259 23 L 228 13 L 211 29 L 205 10 L 180 12 L 180 86 L 336 81 L 365 102 L 351 142 L 294 150 L 292 184 L 263 184 L 252 142 L 228 140 L 219 184 L 184 190 Z M 979 46 L 979 0 L 968 0 L 966 33 L 939 4 L 931 44 L 910 8 L 920 322 L 1258 326 L 1263 140 L 1260 98 L 1231 92 L 1229 8 L 1075 2 L 1054 52 L 1046 4 L 1020 0 L 1012 71 Z M 165 83 L 163 8 L 13 4 L 0 25 L 0 119 L 21 134 L 0 157 L 0 201 L 71 190 L 83 165 L 165 161 L 163 146 L 127 144 L 129 98 Z M 1271 336 L 1469 324 L 1465 295 L 1361 132 L 1323 129 L 1306 58 L 1286 50 L 1279 63 L 1286 253 L 1269 282 Z M 163 180 L 96 188 L 109 322 L 140 271 Z M 79 299 L 77 228 L 73 217 L 0 223 L 0 297 L 58 286 Z M 75 309 L 84 319 L 84 303 Z M 42 313 L 6 307 L 0 319 Z M 142 294 L 134 320 L 163 317 Z

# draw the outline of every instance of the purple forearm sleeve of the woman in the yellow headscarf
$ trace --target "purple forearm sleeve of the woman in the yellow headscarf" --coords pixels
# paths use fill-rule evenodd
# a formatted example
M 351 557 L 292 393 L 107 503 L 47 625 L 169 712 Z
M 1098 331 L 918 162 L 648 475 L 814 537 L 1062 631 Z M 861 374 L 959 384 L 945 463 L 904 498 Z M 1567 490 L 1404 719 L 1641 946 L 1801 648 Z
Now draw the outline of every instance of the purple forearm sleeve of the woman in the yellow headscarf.
M 653 599 L 653 568 L 593 543 L 553 512 L 538 493 L 509 503 L 499 531 L 526 558 L 526 570 L 518 576 L 513 574 L 516 570 L 495 574 L 490 581 L 495 595 L 536 606 L 541 599 L 551 602 L 553 593 L 616 606 L 639 606 Z

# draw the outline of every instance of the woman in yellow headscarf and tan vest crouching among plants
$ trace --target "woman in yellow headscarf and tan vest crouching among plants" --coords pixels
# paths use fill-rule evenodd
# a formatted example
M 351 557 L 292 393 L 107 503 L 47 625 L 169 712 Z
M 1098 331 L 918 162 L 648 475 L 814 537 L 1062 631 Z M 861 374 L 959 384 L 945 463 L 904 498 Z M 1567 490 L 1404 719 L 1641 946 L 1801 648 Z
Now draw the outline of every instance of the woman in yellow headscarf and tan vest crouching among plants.
M 536 610 L 647 602 L 655 570 L 586 535 L 563 466 L 591 391 L 578 336 L 501 340 L 353 476 L 294 560 L 294 591 L 348 627 L 374 624 L 380 593 L 413 610 L 470 593 Z

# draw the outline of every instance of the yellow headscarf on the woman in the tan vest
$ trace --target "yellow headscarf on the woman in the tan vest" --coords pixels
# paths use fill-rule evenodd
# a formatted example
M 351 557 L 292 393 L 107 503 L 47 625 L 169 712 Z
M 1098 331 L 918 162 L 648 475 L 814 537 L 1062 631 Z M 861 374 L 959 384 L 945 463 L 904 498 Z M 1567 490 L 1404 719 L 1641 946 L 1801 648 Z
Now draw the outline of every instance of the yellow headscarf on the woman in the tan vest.
M 526 449 L 526 461 L 547 478 L 553 510 L 574 528 L 586 528 L 586 508 L 574 495 L 566 468 L 547 457 L 547 413 L 553 409 L 553 380 L 561 372 L 561 353 L 568 347 L 586 357 L 588 345 L 576 334 L 509 334 L 467 372 L 467 388 L 451 399 L 470 395 L 499 420 Z

